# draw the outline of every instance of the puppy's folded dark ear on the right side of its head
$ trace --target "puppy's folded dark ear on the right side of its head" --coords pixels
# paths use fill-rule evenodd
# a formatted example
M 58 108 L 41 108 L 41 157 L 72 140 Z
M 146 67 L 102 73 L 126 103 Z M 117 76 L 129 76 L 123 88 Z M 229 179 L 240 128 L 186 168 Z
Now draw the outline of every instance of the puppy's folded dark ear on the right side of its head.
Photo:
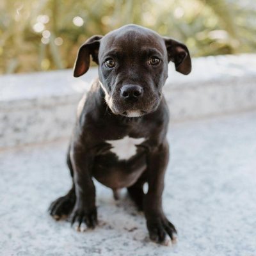
M 172 39 L 164 38 L 168 54 L 168 62 L 175 64 L 176 71 L 188 75 L 191 72 L 191 58 L 186 45 Z

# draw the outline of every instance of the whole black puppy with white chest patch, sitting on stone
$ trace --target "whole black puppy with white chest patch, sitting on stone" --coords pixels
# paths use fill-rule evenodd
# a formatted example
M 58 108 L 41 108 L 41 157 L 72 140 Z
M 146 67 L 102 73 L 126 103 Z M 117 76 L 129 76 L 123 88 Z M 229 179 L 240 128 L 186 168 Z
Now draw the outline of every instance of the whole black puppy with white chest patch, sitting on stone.
M 51 215 L 70 215 L 79 227 L 85 223 L 94 228 L 94 177 L 113 191 L 127 188 L 145 213 L 150 239 L 161 243 L 166 234 L 173 239 L 175 227 L 162 207 L 169 122 L 162 88 L 169 61 L 182 74 L 191 71 L 188 48 L 150 29 L 127 25 L 89 38 L 78 51 L 75 77 L 86 73 L 90 56 L 99 65 L 99 79 L 77 111 L 67 160 L 73 186 L 51 204 Z

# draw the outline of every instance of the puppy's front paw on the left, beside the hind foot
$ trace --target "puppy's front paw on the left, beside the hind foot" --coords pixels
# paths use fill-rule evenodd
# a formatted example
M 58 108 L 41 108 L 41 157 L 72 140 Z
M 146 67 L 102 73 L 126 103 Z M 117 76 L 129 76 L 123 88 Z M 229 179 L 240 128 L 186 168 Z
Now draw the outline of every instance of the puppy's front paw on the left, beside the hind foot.
M 71 225 L 75 222 L 78 223 L 77 231 L 80 231 L 81 225 L 84 223 L 88 228 L 95 228 L 98 224 L 97 221 L 97 209 L 96 207 L 87 210 L 86 207 L 75 206 L 72 214 L 70 215 Z

